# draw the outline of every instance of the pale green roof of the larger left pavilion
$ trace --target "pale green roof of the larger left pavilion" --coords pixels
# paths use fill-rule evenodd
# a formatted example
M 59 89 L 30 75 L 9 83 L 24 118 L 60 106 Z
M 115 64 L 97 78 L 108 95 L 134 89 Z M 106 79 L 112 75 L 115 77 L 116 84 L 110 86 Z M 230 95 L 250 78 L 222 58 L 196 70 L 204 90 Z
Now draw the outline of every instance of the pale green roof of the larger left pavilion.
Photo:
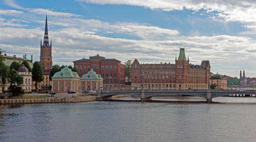
M 72 72 L 70 68 L 66 65 L 59 72 L 55 73 L 52 78 L 80 78 L 76 72 Z

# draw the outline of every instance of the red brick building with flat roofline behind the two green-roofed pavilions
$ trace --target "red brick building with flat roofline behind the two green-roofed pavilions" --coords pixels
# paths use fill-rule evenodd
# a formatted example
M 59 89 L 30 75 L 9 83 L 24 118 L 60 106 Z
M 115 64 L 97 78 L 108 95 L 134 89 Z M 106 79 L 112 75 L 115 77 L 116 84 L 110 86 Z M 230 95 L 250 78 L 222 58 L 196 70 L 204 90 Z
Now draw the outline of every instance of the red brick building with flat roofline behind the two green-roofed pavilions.
M 80 59 L 73 61 L 74 66 L 78 68 L 78 75 L 84 74 L 93 69 L 96 74 L 101 75 L 103 80 L 103 89 L 119 89 L 123 87 L 125 81 L 125 66 L 117 59 L 105 59 L 99 55 L 92 56 L 90 59 Z

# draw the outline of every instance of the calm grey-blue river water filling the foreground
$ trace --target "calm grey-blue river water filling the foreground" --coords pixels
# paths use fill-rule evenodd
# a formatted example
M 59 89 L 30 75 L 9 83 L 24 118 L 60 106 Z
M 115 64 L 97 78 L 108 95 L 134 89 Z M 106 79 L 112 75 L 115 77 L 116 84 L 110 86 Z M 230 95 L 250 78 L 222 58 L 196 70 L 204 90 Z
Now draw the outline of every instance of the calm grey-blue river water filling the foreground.
M 256 141 L 256 98 L 213 101 L 0 105 L 0 141 Z

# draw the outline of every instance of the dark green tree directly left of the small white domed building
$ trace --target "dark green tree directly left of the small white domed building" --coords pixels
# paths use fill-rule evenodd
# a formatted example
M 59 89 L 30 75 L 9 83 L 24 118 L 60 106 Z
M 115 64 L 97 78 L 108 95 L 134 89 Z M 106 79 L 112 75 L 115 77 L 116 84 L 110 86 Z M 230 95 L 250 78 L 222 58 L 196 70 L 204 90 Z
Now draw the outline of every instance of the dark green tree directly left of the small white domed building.
M 18 72 L 14 68 L 12 68 L 10 69 L 9 78 L 10 78 L 9 91 L 13 94 L 13 96 L 22 94 L 24 91 L 22 90 L 22 87 L 20 87 L 20 85 L 23 84 L 23 77 L 18 75 Z

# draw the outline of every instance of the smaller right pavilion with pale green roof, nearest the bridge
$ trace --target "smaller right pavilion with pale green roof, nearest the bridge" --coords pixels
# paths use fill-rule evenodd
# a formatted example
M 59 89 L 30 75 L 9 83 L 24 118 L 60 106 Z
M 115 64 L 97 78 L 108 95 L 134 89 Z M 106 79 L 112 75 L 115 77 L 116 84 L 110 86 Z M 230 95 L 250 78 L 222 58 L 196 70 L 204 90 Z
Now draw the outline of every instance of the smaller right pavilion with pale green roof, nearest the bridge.
M 82 90 L 102 90 L 103 78 L 91 69 L 90 72 L 81 77 Z

